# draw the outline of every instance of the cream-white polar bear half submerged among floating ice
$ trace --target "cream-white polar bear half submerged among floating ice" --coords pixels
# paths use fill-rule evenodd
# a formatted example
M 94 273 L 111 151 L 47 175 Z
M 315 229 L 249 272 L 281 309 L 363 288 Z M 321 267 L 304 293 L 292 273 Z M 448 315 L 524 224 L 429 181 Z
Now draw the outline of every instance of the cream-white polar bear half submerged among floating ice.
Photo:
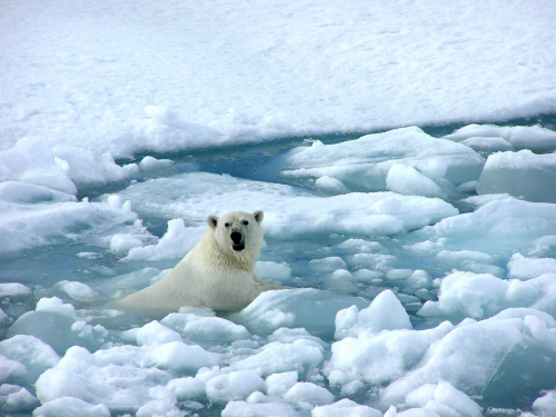
M 261 210 L 209 216 L 200 241 L 167 276 L 117 304 L 159 312 L 183 306 L 232 311 L 262 291 L 286 289 L 267 285 L 254 272 L 262 246 L 262 216 Z

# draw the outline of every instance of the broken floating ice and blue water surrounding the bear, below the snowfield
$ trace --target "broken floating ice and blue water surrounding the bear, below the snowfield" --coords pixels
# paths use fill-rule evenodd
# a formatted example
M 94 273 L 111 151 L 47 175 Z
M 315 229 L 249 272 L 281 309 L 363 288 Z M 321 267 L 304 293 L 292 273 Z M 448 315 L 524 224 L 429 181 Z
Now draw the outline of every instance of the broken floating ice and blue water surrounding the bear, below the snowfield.
M 552 415 L 554 161 L 527 143 L 556 135 L 406 128 L 256 145 L 239 167 L 229 149 L 117 165 L 19 141 L 0 152 L 2 410 Z M 235 209 L 265 210 L 256 271 L 295 289 L 224 316 L 111 305 Z

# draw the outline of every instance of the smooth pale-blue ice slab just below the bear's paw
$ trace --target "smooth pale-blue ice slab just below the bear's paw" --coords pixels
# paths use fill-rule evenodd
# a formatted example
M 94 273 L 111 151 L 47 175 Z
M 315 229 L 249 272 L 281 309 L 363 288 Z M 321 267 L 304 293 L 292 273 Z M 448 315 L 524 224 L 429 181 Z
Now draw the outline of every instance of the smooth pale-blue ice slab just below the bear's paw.
M 331 336 L 338 310 L 351 305 L 363 308 L 367 304 L 363 298 L 310 288 L 266 291 L 229 318 L 255 334 L 270 334 L 280 327 L 304 327 L 319 336 Z

